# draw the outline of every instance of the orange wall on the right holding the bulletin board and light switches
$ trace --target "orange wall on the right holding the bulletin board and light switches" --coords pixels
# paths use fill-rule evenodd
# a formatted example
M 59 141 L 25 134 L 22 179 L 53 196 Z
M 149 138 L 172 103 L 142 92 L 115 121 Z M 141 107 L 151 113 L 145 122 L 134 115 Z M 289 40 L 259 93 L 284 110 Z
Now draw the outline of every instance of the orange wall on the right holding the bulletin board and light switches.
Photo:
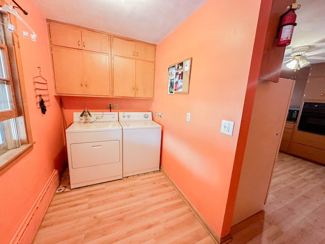
M 248 131 L 246 123 L 241 131 L 245 138 L 238 144 L 241 120 L 249 123 L 252 106 L 243 111 L 246 90 L 249 84 L 253 98 L 261 65 L 260 51 L 250 71 L 260 5 L 255 0 L 208 0 L 157 45 L 150 109 L 163 113 L 157 120 L 164 126 L 161 168 L 219 237 L 230 230 L 233 208 L 226 212 L 226 207 L 229 198 L 231 204 L 236 198 L 233 192 L 229 195 L 233 166 L 236 151 L 243 157 Z M 189 93 L 168 95 L 168 66 L 188 57 Z M 254 79 L 248 83 L 250 72 Z M 235 122 L 233 136 L 220 133 L 221 119 Z

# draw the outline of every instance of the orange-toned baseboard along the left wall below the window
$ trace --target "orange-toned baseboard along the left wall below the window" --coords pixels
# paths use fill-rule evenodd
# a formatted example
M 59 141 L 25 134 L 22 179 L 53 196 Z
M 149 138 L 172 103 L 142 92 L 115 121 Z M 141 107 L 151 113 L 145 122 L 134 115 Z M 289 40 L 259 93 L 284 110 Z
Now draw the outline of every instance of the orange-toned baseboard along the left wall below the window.
M 30 244 L 32 242 L 58 186 L 59 174 L 54 169 L 11 239 L 10 244 Z

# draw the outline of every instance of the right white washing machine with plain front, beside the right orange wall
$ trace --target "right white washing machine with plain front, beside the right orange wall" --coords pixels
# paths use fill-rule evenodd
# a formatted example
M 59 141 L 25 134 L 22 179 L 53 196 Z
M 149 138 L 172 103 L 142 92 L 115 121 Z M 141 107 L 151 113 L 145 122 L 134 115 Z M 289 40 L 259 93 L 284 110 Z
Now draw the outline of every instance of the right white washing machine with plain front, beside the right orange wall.
M 151 112 L 119 112 L 123 131 L 123 177 L 159 170 L 161 126 Z

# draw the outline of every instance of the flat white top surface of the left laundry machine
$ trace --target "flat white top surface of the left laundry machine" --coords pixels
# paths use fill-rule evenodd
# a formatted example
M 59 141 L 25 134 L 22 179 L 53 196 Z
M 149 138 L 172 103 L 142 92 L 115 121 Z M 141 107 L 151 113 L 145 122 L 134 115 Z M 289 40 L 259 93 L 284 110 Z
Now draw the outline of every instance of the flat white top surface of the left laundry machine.
M 67 130 L 66 133 L 75 132 L 92 132 L 92 131 L 116 131 L 122 130 L 122 127 L 118 121 L 110 122 L 93 122 L 89 124 L 84 123 L 73 123 Z

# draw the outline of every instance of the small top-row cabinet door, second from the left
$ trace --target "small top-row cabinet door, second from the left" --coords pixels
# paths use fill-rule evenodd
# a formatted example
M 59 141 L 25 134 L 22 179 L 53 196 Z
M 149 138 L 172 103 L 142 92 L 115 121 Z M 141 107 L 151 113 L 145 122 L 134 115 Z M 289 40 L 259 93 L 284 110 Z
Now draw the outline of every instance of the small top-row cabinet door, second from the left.
M 95 33 L 85 29 L 81 32 L 82 49 L 109 54 L 109 35 Z

